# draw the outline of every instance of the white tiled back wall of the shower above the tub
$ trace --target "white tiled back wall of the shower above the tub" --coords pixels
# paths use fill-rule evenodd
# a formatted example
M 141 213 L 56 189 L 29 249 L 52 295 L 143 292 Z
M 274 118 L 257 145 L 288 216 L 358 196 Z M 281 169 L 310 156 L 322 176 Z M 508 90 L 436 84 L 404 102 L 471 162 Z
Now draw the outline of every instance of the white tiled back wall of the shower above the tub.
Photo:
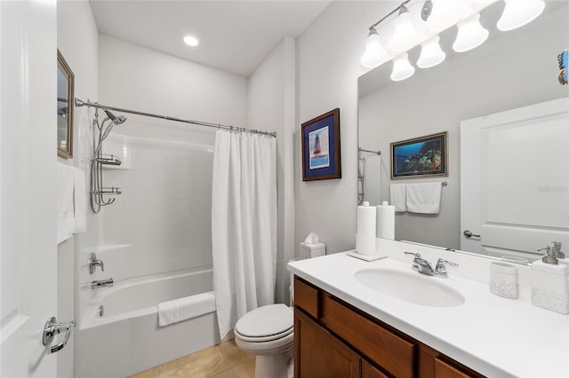
M 104 185 L 122 194 L 95 216 L 105 271 L 82 268 L 84 282 L 211 267 L 213 147 L 114 132 L 103 146 L 124 162 L 103 171 Z M 84 290 L 82 313 L 94 294 Z

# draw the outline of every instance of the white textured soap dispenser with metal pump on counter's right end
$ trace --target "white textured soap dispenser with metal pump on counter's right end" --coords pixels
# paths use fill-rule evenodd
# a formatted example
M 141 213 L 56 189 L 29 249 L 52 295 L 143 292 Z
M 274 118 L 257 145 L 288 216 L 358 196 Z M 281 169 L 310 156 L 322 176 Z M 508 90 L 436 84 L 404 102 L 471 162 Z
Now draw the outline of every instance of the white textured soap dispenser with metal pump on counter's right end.
M 547 255 L 532 263 L 532 304 L 569 313 L 569 265 L 558 264 L 555 245 L 543 249 Z

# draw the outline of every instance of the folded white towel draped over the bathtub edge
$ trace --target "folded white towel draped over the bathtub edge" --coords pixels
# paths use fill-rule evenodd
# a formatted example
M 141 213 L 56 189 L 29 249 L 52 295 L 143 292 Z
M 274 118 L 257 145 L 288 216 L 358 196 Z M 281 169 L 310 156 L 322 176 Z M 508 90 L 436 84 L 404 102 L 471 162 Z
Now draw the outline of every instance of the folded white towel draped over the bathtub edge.
M 158 326 L 169 326 L 212 311 L 215 311 L 215 297 L 212 291 L 172 299 L 172 301 L 158 303 Z

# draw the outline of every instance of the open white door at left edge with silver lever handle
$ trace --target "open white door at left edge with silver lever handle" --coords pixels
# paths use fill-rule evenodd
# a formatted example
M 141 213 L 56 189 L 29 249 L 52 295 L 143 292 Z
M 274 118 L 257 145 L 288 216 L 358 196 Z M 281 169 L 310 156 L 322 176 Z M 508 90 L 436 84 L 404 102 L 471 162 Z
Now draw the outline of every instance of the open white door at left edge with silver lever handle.
M 0 376 L 54 377 L 42 342 L 57 309 L 54 0 L 0 1 L 0 58 Z

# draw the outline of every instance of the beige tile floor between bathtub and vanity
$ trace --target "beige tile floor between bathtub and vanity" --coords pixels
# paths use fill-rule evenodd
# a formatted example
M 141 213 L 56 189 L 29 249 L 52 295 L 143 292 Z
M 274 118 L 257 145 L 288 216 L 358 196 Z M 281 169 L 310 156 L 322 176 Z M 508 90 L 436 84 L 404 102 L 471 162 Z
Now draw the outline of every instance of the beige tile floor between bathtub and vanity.
M 255 356 L 240 350 L 235 340 L 155 366 L 130 378 L 252 378 Z

